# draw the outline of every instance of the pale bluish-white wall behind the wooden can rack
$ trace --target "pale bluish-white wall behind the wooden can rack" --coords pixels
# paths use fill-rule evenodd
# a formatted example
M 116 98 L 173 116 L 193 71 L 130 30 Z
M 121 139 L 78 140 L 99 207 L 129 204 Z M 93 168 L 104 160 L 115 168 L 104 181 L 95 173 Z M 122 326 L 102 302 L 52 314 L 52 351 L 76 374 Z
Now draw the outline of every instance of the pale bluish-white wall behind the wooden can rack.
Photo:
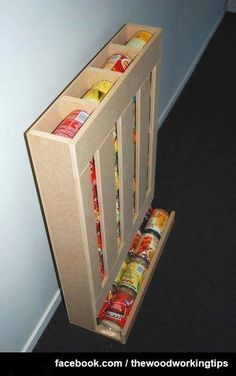
M 224 0 L 0 0 L 0 351 L 32 348 L 59 301 L 23 132 L 126 22 L 164 28 L 163 118 L 223 12 Z

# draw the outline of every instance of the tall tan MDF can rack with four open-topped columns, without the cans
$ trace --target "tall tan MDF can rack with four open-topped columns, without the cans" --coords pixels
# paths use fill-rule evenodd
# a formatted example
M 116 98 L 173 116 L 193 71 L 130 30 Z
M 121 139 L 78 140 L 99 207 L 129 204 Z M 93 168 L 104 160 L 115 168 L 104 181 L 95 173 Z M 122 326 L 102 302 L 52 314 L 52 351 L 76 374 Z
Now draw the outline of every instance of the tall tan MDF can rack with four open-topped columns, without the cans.
M 137 30 L 153 36 L 142 50 L 124 44 Z M 126 24 L 27 131 L 33 167 L 71 323 L 126 342 L 174 222 L 171 212 L 157 252 L 146 272 L 121 333 L 97 325 L 98 311 L 111 289 L 154 196 L 157 141 L 157 86 L 161 59 L 160 28 Z M 124 73 L 101 69 L 114 53 L 132 63 Z M 101 79 L 114 82 L 99 104 L 80 99 Z M 133 216 L 132 98 L 136 96 L 136 202 Z M 66 115 L 91 115 L 73 139 L 51 134 Z M 118 132 L 121 243 L 117 248 L 112 133 Z M 94 157 L 106 275 L 100 280 L 89 161 Z M 148 163 L 147 163 L 148 160 Z

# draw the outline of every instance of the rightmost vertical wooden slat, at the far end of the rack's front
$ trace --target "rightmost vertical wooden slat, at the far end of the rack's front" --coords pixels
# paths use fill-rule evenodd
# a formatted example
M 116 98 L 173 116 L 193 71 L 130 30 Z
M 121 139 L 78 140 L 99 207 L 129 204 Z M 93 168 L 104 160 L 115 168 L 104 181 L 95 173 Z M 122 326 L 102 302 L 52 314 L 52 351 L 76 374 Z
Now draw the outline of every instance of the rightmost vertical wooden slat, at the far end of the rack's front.
M 148 192 L 154 191 L 156 171 L 156 148 L 157 148 L 157 103 L 159 102 L 157 90 L 157 76 L 159 66 L 155 66 L 151 73 L 151 96 L 150 96 L 150 136 L 149 136 L 149 166 L 148 166 Z M 158 80 L 159 85 L 159 80 Z

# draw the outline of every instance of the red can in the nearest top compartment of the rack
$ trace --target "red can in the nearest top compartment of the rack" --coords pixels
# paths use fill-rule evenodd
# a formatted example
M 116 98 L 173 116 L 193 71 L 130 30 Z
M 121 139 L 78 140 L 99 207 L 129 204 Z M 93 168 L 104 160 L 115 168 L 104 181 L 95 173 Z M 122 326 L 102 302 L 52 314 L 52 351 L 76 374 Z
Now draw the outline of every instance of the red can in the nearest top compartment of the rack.
M 88 119 L 89 114 L 83 110 L 70 112 L 66 118 L 52 132 L 57 136 L 73 138 Z

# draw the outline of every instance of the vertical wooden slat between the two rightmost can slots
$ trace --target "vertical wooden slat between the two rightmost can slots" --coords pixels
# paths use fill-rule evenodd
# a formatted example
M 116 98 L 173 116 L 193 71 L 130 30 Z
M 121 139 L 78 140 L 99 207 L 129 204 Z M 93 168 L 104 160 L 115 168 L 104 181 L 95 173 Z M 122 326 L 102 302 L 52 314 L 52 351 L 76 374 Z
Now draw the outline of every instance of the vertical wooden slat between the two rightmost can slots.
M 146 78 L 136 96 L 136 211 L 145 199 L 148 176 L 148 139 L 150 116 L 150 76 Z

